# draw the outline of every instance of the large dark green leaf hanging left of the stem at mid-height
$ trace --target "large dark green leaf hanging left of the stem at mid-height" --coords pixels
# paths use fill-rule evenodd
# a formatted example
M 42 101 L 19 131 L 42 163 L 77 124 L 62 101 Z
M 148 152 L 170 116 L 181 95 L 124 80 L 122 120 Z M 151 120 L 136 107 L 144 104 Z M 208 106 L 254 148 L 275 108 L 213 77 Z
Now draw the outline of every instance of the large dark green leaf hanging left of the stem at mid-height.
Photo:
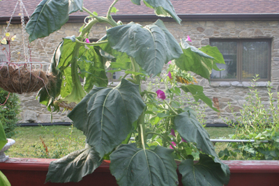
M 94 87 L 68 117 L 103 157 L 126 139 L 144 107 L 139 86 L 122 79 L 115 88 Z

